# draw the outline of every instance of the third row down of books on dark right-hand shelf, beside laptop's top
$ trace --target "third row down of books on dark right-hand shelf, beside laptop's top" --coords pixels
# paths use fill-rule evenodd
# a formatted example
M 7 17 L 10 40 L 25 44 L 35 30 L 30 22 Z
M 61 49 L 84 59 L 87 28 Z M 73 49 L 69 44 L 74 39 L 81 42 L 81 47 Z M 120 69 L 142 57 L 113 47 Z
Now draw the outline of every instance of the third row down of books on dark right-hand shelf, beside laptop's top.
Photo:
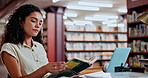
M 148 42 L 142 40 L 133 40 L 128 44 L 133 52 L 148 52 Z

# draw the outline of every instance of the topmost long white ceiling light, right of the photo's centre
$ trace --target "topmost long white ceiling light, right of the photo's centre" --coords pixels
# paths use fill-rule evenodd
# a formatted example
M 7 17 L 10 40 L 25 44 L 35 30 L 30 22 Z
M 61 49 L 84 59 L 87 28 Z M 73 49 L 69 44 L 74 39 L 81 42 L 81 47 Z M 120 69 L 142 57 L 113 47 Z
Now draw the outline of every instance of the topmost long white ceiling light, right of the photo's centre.
M 78 5 L 96 6 L 96 7 L 113 7 L 113 4 L 109 4 L 109 3 L 94 3 L 94 2 L 78 2 Z

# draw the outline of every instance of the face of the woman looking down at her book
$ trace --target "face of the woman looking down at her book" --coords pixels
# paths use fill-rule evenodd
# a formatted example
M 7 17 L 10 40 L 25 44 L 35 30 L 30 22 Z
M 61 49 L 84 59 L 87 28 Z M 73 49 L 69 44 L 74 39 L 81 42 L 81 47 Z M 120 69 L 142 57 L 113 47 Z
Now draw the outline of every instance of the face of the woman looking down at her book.
M 22 23 L 25 31 L 25 36 L 37 36 L 43 24 L 43 17 L 39 12 L 33 12 L 26 17 L 25 22 Z

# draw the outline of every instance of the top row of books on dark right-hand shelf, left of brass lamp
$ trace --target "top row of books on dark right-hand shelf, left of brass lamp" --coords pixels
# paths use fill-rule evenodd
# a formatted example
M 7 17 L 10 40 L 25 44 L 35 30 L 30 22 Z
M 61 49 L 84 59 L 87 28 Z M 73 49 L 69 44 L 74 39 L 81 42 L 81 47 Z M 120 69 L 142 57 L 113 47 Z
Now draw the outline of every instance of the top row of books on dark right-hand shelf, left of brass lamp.
M 137 18 L 138 16 L 140 16 L 142 13 L 137 13 L 136 11 L 132 11 L 131 14 L 128 14 L 127 15 L 127 22 L 130 23 L 130 22 L 136 22 L 136 21 L 139 21 Z

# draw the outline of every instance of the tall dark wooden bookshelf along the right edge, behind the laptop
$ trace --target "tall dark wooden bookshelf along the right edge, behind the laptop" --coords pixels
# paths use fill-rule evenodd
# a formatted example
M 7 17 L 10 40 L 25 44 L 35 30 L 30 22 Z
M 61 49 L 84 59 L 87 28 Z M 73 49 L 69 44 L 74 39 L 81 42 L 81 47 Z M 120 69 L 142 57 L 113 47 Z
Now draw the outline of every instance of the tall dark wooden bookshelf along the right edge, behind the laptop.
M 148 58 L 148 26 L 140 22 L 137 17 L 148 11 L 148 1 L 127 0 L 128 47 L 131 52 L 128 64 L 134 72 L 144 72 L 139 59 Z

